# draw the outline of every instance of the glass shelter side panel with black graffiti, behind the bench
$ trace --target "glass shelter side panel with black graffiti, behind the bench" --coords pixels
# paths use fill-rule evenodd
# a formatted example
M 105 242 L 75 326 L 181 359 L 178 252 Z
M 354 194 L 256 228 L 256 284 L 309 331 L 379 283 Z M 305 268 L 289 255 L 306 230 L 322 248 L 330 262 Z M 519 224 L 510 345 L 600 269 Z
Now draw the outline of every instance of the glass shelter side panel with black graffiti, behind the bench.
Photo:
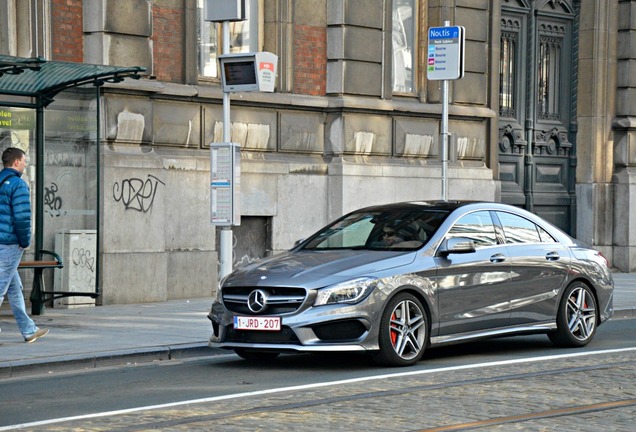
M 44 249 L 64 262 L 55 291 L 95 292 L 98 226 L 97 95 L 94 87 L 57 96 L 45 113 Z M 56 307 L 94 304 L 66 297 Z

